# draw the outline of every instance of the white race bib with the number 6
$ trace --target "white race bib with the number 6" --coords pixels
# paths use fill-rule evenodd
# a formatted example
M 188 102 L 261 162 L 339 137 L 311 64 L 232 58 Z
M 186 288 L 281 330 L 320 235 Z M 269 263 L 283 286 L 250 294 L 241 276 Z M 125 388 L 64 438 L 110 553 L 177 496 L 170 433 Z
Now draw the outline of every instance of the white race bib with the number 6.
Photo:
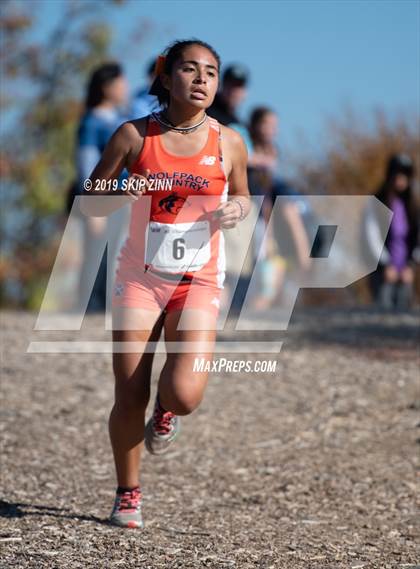
M 210 260 L 210 224 L 159 223 L 146 229 L 145 264 L 157 271 L 185 273 L 199 271 Z

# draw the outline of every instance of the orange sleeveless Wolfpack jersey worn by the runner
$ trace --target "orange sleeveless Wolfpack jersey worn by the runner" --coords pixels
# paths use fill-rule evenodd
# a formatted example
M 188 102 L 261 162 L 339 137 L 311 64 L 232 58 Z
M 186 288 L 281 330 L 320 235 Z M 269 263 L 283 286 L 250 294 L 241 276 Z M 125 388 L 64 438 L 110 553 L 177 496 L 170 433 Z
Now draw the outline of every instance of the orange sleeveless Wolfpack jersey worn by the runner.
M 227 200 L 220 125 L 208 117 L 207 142 L 193 156 L 168 152 L 154 115 L 131 173 L 150 170 L 151 185 L 131 205 L 128 237 L 119 260 L 130 268 L 183 274 L 222 288 L 223 232 L 213 213 Z M 181 135 L 180 135 L 181 136 Z

